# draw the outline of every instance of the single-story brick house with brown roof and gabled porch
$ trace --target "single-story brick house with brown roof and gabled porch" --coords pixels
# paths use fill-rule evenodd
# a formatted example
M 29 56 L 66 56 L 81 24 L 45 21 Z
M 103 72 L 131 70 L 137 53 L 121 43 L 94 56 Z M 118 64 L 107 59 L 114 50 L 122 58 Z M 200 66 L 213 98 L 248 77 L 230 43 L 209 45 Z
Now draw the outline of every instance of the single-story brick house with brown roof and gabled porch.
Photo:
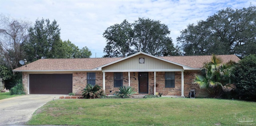
M 224 62 L 239 61 L 236 55 L 219 55 Z M 206 93 L 192 85 L 202 63 L 212 55 L 155 57 L 138 52 L 128 57 L 39 59 L 13 71 L 22 72 L 24 90 L 28 94 L 82 94 L 86 84 L 98 84 L 106 94 L 114 94 L 120 86 L 131 86 L 137 95 L 162 93 L 196 96 Z

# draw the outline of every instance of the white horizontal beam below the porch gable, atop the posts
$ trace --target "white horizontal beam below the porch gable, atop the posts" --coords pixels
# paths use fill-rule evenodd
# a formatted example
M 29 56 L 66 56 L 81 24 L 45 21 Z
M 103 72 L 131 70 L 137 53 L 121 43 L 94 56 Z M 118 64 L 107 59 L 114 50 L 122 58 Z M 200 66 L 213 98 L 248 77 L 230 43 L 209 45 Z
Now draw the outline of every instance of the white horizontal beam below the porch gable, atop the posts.
M 103 70 L 102 72 L 174 72 L 184 71 L 184 69 L 124 69 L 124 70 Z

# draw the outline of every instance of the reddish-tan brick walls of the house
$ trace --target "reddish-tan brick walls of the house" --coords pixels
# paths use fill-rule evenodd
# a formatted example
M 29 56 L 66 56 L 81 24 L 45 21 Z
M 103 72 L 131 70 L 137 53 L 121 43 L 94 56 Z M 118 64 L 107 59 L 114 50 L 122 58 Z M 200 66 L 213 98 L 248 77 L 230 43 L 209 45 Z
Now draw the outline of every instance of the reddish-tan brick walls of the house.
M 196 97 L 206 97 L 207 93 L 204 89 L 199 89 L 197 85 L 192 85 L 192 80 L 194 75 L 199 73 L 198 71 L 185 71 L 184 72 L 184 96 L 188 97 L 190 89 L 195 89 Z M 135 75 L 134 75 L 135 74 Z M 102 87 L 103 83 L 103 73 L 96 73 L 96 84 Z M 28 74 L 22 73 L 22 83 L 24 90 L 28 93 Z M 72 92 L 76 95 L 82 95 L 82 90 L 87 84 L 87 73 L 86 72 L 75 72 L 73 73 L 72 80 Z M 123 86 L 129 85 L 128 72 L 123 72 Z M 180 96 L 181 95 L 181 72 L 175 72 L 175 87 L 166 88 L 165 87 L 165 72 L 156 72 L 156 92 L 162 93 L 163 95 Z M 130 72 L 130 86 L 134 88 L 134 91 L 138 94 L 138 72 Z M 148 94 L 154 94 L 154 72 L 148 72 Z M 105 89 L 107 95 L 112 95 L 116 93 L 119 87 L 114 87 L 114 73 L 105 73 Z M 110 93 L 110 91 L 112 91 Z

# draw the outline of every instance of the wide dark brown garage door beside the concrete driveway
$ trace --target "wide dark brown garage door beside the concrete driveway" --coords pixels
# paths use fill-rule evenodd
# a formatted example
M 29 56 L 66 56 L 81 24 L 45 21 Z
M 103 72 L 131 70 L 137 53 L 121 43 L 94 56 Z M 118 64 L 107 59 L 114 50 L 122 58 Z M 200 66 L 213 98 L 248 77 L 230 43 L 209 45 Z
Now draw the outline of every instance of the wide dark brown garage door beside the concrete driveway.
M 30 74 L 30 94 L 72 93 L 72 74 Z

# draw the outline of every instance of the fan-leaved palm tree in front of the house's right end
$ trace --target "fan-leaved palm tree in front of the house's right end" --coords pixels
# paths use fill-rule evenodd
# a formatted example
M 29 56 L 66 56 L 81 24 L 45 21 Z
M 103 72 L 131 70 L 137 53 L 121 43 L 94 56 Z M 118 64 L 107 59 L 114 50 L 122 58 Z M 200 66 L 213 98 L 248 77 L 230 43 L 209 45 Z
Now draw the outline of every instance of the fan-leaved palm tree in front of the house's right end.
M 193 84 L 198 85 L 200 89 L 207 89 L 210 96 L 218 98 L 224 92 L 236 89 L 232 83 L 234 69 L 234 61 L 223 63 L 220 56 L 212 55 L 211 61 L 203 64 L 202 74 L 195 76 Z

